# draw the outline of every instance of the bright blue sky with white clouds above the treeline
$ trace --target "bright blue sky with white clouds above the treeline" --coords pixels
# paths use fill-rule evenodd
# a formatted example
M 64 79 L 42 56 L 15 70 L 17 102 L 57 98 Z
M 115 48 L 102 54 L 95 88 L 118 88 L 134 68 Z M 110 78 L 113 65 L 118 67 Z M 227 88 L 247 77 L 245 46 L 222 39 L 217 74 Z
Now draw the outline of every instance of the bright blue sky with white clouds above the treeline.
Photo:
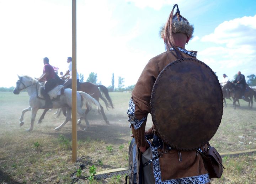
M 165 52 L 159 29 L 173 4 L 194 25 L 187 50 L 229 78 L 256 75 L 256 1 L 77 0 L 77 70 L 85 79 L 134 85 L 148 61 Z M 71 0 L 0 0 L 0 87 L 18 75 L 39 77 L 42 58 L 67 70 L 72 56 Z

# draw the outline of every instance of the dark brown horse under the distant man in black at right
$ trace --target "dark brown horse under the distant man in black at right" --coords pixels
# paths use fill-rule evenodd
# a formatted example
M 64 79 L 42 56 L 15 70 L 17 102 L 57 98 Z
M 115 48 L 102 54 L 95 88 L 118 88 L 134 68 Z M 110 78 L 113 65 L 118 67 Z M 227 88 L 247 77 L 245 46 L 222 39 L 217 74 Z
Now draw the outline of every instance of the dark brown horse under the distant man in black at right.
M 236 109 L 236 101 L 238 101 L 239 99 L 242 99 L 241 89 L 232 82 L 227 82 L 224 87 L 229 89 L 230 96 L 233 98 L 234 109 Z M 246 87 L 244 100 L 246 102 L 249 102 L 249 104 L 248 104 L 249 108 L 252 108 L 253 96 L 256 101 L 256 92 L 254 90 L 252 90 L 252 88 Z M 250 106 L 250 104 L 251 104 L 251 106 Z

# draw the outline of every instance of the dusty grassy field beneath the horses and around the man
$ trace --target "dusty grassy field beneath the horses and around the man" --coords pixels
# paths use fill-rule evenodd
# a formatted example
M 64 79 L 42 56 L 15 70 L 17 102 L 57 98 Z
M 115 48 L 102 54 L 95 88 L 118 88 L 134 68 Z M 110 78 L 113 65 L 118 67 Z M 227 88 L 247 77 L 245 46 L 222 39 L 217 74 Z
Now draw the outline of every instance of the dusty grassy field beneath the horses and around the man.
M 130 139 L 126 114 L 130 93 L 110 93 L 114 109 L 105 108 L 111 125 L 107 125 L 101 114 L 92 110 L 88 114 L 90 129 L 83 131 L 85 122 L 78 126 L 78 157 L 89 156 L 91 162 L 83 175 L 89 175 L 89 167 L 95 165 L 97 172 L 113 168 L 128 168 L 128 147 Z M 240 101 L 241 107 L 234 110 L 227 101 L 222 123 L 210 144 L 218 152 L 241 151 L 256 148 L 256 103 L 253 109 Z M 101 104 L 104 103 L 101 101 Z M 41 124 L 36 124 L 43 110 L 39 110 L 34 130 L 27 132 L 31 112 L 24 117 L 20 127 L 19 117 L 28 107 L 28 95 L 23 92 L 14 95 L 0 92 L 0 184 L 61 183 L 72 182 L 76 166 L 72 163 L 71 123 L 61 130 L 54 128 L 64 121 L 64 116 L 56 118 L 55 110 L 46 114 Z M 150 115 L 149 115 L 150 116 Z M 147 126 L 152 124 L 148 118 Z M 256 183 L 256 156 L 224 157 L 223 176 L 212 183 L 244 184 Z M 81 180 L 80 183 L 87 183 Z M 124 176 L 117 176 L 92 183 L 124 183 Z

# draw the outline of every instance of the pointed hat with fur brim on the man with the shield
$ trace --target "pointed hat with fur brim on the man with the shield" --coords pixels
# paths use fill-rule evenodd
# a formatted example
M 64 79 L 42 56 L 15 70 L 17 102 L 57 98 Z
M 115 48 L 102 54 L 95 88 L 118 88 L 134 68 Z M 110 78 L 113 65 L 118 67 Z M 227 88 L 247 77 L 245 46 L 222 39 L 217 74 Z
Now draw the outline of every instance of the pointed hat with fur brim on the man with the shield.
M 180 10 L 178 9 L 178 5 L 176 6 L 177 6 L 177 10 L 175 15 L 172 18 L 172 33 L 184 33 L 191 39 L 193 38 L 192 34 L 194 32 L 194 26 L 191 25 L 186 18 L 180 15 Z M 165 25 L 163 25 L 160 28 L 159 34 L 161 38 L 164 38 L 164 28 L 165 28 Z

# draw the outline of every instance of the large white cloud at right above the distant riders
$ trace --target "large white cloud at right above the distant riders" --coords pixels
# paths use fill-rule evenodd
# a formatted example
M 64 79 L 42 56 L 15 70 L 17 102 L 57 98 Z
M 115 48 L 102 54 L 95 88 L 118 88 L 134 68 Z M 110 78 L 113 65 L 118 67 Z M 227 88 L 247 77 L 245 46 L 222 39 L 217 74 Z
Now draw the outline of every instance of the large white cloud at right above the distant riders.
M 198 58 L 213 70 L 229 73 L 231 77 L 238 71 L 243 71 L 245 76 L 255 74 L 256 15 L 225 21 L 201 41 L 217 45 L 198 52 Z

